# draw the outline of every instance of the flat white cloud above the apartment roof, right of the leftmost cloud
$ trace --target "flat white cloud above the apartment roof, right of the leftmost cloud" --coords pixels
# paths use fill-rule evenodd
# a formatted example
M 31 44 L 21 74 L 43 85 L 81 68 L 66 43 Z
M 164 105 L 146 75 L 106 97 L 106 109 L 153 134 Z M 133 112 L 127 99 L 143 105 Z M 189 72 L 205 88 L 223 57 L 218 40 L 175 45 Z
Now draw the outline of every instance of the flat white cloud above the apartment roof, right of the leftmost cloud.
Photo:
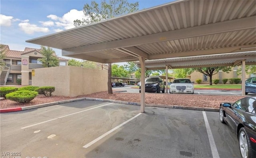
M 20 23 L 19 27 L 26 34 L 34 34 L 34 32 L 49 32 L 48 28 L 38 27 L 34 24 L 29 24 L 28 22 Z

